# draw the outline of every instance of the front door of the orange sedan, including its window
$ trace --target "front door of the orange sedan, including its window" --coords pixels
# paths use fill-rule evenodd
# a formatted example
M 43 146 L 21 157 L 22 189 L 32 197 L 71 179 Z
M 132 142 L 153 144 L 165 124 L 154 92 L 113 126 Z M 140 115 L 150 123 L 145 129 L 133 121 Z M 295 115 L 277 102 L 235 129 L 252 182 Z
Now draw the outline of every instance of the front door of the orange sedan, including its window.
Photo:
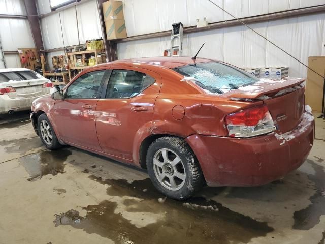
M 95 110 L 101 96 L 105 70 L 86 73 L 64 92 L 54 104 L 55 124 L 64 142 L 101 151 L 98 142 Z

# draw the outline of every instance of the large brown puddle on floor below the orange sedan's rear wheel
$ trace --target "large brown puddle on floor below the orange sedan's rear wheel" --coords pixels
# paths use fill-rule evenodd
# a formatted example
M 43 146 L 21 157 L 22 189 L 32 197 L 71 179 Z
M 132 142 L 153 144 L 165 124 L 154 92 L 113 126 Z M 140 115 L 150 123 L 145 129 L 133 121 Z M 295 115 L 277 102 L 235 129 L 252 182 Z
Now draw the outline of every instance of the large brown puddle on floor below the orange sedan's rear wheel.
M 89 178 L 108 184 L 107 194 L 110 196 L 135 197 L 123 200 L 125 211 L 161 214 L 164 218 L 136 227 L 115 212 L 117 203 L 105 200 L 84 207 L 87 211 L 84 217 L 76 210 L 55 215 L 55 226 L 70 225 L 115 243 L 246 243 L 253 237 L 273 231 L 267 223 L 253 220 L 212 200 L 200 197 L 184 202 L 166 199 L 154 189 L 150 179 L 130 184 L 126 180 Z

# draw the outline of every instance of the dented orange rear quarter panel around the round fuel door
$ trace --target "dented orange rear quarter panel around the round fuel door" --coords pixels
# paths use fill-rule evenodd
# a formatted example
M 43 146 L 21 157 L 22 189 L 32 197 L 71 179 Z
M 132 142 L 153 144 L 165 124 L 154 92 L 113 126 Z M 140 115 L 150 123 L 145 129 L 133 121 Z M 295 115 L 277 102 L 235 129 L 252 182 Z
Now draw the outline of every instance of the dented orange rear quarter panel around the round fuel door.
M 180 81 L 183 76 L 170 70 L 163 75 L 163 85 L 156 99 L 152 134 L 170 134 L 185 138 L 192 134 L 227 136 L 226 115 L 262 101 L 233 101 L 216 94 L 207 94 L 190 81 Z M 175 119 L 175 106 L 184 108 L 184 117 Z

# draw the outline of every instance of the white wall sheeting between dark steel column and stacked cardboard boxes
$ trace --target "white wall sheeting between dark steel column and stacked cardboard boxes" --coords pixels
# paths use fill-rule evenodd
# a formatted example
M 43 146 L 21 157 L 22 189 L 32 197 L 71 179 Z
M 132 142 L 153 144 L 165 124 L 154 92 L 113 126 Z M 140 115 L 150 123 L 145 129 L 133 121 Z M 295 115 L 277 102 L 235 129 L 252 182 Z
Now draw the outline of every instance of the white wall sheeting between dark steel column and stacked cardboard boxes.
M 41 31 L 45 49 L 63 47 L 64 45 L 73 46 L 79 44 L 78 28 L 81 44 L 85 43 L 88 39 L 100 38 L 102 36 L 99 14 L 95 0 L 87 1 L 77 5 L 76 7 L 71 7 L 42 18 Z

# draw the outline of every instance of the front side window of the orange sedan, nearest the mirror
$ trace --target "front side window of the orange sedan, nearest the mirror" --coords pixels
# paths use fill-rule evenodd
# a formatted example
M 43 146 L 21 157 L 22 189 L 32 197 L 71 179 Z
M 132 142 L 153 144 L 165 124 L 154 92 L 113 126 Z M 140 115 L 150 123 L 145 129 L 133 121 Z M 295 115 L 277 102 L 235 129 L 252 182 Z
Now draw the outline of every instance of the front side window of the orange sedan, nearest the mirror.
M 65 98 L 100 98 L 105 70 L 80 76 L 68 88 Z

